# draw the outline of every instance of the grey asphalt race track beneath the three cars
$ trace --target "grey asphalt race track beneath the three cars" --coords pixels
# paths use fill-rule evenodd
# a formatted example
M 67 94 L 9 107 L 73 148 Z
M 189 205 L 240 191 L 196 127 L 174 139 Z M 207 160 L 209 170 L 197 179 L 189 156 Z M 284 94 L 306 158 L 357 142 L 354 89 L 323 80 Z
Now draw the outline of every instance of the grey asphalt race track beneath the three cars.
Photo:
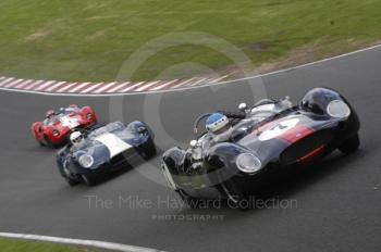
M 163 178 L 157 168 L 159 158 L 97 187 L 71 188 L 59 176 L 54 151 L 36 144 L 29 125 L 47 109 L 69 103 L 94 106 L 102 122 L 152 121 L 159 115 L 160 124 L 155 119 L 148 123 L 153 124 L 153 130 L 155 125 L 161 125 L 170 136 L 157 130 L 160 147 L 165 149 L 192 139 L 192 123 L 200 113 L 235 110 L 241 101 L 253 103 L 247 80 L 164 94 L 121 97 L 118 99 L 123 99 L 123 104 L 119 106 L 110 105 L 118 103 L 115 98 L 1 91 L 0 230 L 107 240 L 167 251 L 381 251 L 380 65 L 381 49 L 372 49 L 262 78 L 270 97 L 288 94 L 294 101 L 316 86 L 341 91 L 360 116 L 361 148 L 353 155 L 337 152 L 319 165 L 271 180 L 266 190 L 279 200 L 296 200 L 297 207 L 246 212 L 226 207 L 179 210 L 160 203 L 168 197 L 177 197 L 160 185 Z M 159 105 L 152 100 L 160 101 Z M 145 114 L 152 108 L 157 111 Z M 89 206 L 87 196 L 114 205 Z M 128 196 L 152 205 L 118 204 L 119 197 Z M 155 219 L 187 214 L 223 215 L 223 219 Z

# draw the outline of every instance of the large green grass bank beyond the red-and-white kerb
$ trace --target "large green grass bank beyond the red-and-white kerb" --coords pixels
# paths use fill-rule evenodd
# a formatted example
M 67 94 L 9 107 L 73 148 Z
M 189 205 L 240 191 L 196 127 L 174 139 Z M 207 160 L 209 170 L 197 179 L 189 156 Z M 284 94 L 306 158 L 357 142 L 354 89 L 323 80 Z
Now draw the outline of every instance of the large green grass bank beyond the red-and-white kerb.
M 139 47 L 186 32 L 233 43 L 255 66 L 304 52 L 321 59 L 380 40 L 380 11 L 379 0 L 1 0 L 0 75 L 112 80 Z M 150 56 L 132 78 L 205 70 L 183 62 L 222 72 L 234 64 L 208 47 L 182 45 Z

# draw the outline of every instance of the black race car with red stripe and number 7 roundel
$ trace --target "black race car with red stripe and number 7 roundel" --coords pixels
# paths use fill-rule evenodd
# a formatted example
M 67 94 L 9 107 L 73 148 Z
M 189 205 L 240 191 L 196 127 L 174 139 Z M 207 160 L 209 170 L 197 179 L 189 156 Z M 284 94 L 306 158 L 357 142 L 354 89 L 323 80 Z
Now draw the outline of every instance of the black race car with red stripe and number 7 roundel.
M 348 154 L 359 147 L 356 112 L 329 88 L 311 89 L 297 105 L 285 98 L 238 108 L 235 113 L 201 115 L 188 149 L 175 147 L 162 155 L 170 188 L 190 207 L 210 198 L 250 207 L 254 186 L 270 171 L 315 163 L 336 149 Z M 208 130 L 198 136 L 204 118 Z

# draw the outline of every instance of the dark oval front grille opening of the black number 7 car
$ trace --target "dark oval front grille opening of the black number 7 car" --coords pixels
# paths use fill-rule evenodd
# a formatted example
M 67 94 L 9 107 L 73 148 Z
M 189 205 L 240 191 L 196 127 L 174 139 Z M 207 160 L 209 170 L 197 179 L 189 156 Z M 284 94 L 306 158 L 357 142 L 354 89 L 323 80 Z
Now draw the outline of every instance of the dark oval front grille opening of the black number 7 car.
M 295 163 L 298 159 L 307 155 L 319 147 L 327 146 L 333 138 L 329 130 L 315 133 L 306 138 L 287 147 L 280 156 L 280 162 L 283 165 Z

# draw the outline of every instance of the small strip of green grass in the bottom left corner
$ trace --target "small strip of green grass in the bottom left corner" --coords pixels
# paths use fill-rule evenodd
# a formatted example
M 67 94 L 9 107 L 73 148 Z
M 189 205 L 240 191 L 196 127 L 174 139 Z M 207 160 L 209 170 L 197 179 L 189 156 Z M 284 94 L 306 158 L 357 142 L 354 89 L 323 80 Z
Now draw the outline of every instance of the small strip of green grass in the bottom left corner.
M 90 250 L 77 249 L 54 243 L 35 242 L 26 240 L 0 239 L 1 252 L 89 252 Z

